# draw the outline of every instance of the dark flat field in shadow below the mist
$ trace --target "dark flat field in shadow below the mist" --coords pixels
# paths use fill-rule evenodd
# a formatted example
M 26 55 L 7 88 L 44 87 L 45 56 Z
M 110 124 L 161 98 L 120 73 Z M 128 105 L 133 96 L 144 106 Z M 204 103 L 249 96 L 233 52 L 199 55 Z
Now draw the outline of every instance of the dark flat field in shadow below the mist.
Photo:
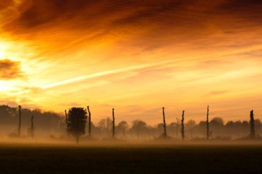
M 262 173 L 261 144 L 0 145 L 0 173 Z

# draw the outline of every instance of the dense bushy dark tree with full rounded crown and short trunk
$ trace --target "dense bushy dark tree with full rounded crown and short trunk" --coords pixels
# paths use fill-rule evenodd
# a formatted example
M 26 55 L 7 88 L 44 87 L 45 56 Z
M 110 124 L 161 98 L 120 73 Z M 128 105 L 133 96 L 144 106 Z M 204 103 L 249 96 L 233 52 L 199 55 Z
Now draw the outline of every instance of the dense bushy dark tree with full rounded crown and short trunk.
M 87 111 L 80 107 L 73 107 L 68 111 L 67 131 L 75 136 L 76 143 L 82 134 L 85 134 L 85 124 L 87 123 Z

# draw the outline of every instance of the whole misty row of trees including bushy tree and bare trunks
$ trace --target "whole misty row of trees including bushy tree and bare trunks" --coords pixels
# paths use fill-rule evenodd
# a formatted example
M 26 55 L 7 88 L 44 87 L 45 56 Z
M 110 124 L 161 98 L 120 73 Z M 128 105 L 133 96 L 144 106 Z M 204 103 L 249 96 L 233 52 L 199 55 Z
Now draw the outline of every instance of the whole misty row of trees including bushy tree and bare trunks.
M 57 137 L 62 138 L 74 136 L 76 141 L 82 135 L 87 139 L 117 138 L 141 140 L 158 138 L 182 140 L 257 138 L 262 130 L 261 121 L 254 119 L 253 111 L 250 112 L 249 120 L 229 120 L 224 122 L 223 118 L 220 117 L 210 119 L 208 107 L 206 120 L 198 123 L 195 120 L 187 120 L 185 111 L 182 111 L 181 118 L 175 118 L 173 122 L 167 124 L 164 108 L 162 109 L 163 122 L 152 126 L 147 125 L 143 120 L 133 120 L 130 123 L 125 120 L 117 120 L 114 109 L 112 109 L 112 117 L 103 118 L 97 124 L 94 124 L 89 106 L 87 106 L 87 109 L 73 107 L 68 110 L 68 113 L 65 111 L 66 116 L 64 116 L 61 113 L 43 112 L 39 109 L 30 110 L 1 105 L 0 128 L 5 127 L 6 129 L 6 127 L 9 127 L 13 130 L 12 134 L 10 134 L 12 136 L 21 136 L 21 127 L 24 127 L 26 131 L 23 128 L 22 130 L 26 132 L 26 136 L 57 134 Z M 87 134 L 85 134 L 86 130 Z M 46 133 L 42 134 L 42 132 Z

